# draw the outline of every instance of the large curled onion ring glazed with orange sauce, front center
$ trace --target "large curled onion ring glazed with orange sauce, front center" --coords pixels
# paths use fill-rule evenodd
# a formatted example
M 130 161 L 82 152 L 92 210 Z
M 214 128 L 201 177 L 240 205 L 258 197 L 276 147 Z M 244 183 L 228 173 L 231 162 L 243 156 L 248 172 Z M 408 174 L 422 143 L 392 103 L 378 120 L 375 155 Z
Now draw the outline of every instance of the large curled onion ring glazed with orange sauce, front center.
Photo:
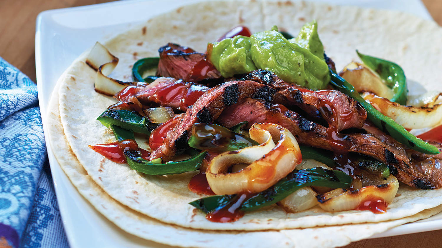
M 215 194 L 261 192 L 287 176 L 301 162 L 298 143 L 286 128 L 255 123 L 249 133 L 251 139 L 262 144 L 219 154 L 209 163 L 206 178 Z M 226 173 L 236 164 L 248 166 Z

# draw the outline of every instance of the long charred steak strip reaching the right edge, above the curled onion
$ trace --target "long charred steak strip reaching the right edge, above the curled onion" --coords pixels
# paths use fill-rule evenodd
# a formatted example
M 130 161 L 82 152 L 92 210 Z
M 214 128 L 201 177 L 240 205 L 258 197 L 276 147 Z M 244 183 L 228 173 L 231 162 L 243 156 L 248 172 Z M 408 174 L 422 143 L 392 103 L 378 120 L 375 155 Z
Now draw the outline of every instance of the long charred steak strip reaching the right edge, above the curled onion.
M 389 165 L 391 174 L 414 188 L 442 187 L 442 155 L 427 155 L 404 149 L 402 144 L 374 126 L 364 126 L 367 134 L 330 132 L 329 128 L 307 120 L 283 106 L 275 107 L 251 98 L 225 108 L 216 120 L 227 128 L 243 121 L 249 121 L 249 126 L 255 122 L 279 124 L 292 132 L 300 145 L 369 155 Z

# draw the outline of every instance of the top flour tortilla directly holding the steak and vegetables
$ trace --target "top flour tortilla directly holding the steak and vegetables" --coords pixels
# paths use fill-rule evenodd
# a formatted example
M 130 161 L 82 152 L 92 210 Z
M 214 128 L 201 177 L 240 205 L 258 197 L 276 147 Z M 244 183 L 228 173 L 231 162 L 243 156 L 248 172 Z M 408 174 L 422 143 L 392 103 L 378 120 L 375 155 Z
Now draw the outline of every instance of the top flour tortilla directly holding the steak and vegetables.
M 392 11 L 336 7 L 312 3 L 222 1 L 179 8 L 157 16 L 104 45 L 120 62 L 114 78 L 130 80 L 132 64 L 143 57 L 157 56 L 157 49 L 175 42 L 205 51 L 226 30 L 238 25 L 252 32 L 279 25 L 292 34 L 307 21 L 316 19 L 326 53 L 338 70 L 361 53 L 400 64 L 408 79 L 427 90 L 440 90 L 442 78 L 442 30 L 434 22 Z M 389 23 L 388 26 L 385 23 Z M 425 48 L 425 49 L 423 49 Z M 86 54 L 86 53 L 85 53 Z M 110 197 L 161 222 L 206 230 L 281 230 L 350 223 L 385 222 L 413 216 L 442 204 L 442 189 L 418 190 L 401 185 L 386 214 L 370 211 L 324 213 L 318 207 L 288 214 L 280 207 L 248 213 L 237 222 L 213 223 L 188 203 L 202 196 L 190 192 L 187 183 L 195 174 L 149 176 L 116 164 L 87 145 L 114 141 L 110 129 L 96 117 L 115 100 L 93 90 L 95 71 L 80 56 L 66 71 L 59 89 L 60 117 L 66 139 L 76 158 Z M 55 151 L 57 152 L 57 151 Z

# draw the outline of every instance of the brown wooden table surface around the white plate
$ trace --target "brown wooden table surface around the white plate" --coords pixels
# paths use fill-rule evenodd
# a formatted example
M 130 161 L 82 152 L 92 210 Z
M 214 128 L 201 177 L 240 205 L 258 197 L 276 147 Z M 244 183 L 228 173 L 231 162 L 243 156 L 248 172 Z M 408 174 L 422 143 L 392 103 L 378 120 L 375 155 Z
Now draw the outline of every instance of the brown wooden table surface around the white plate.
M 35 79 L 35 19 L 41 11 L 112 0 L 0 0 L 0 57 Z M 422 0 L 442 26 L 442 0 Z M 442 246 L 442 230 L 361 240 L 345 248 L 433 248 Z

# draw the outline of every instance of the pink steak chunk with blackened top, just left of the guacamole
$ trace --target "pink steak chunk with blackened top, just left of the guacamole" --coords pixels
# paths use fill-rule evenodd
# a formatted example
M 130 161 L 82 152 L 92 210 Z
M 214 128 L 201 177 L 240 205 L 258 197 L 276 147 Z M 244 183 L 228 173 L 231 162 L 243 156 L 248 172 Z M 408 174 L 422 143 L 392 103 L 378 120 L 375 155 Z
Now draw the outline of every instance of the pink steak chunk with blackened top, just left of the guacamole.
M 199 82 L 204 79 L 219 79 L 221 74 L 206 59 L 205 53 L 178 44 L 168 43 L 158 49 L 160 62 L 157 76 L 183 79 L 186 82 Z

